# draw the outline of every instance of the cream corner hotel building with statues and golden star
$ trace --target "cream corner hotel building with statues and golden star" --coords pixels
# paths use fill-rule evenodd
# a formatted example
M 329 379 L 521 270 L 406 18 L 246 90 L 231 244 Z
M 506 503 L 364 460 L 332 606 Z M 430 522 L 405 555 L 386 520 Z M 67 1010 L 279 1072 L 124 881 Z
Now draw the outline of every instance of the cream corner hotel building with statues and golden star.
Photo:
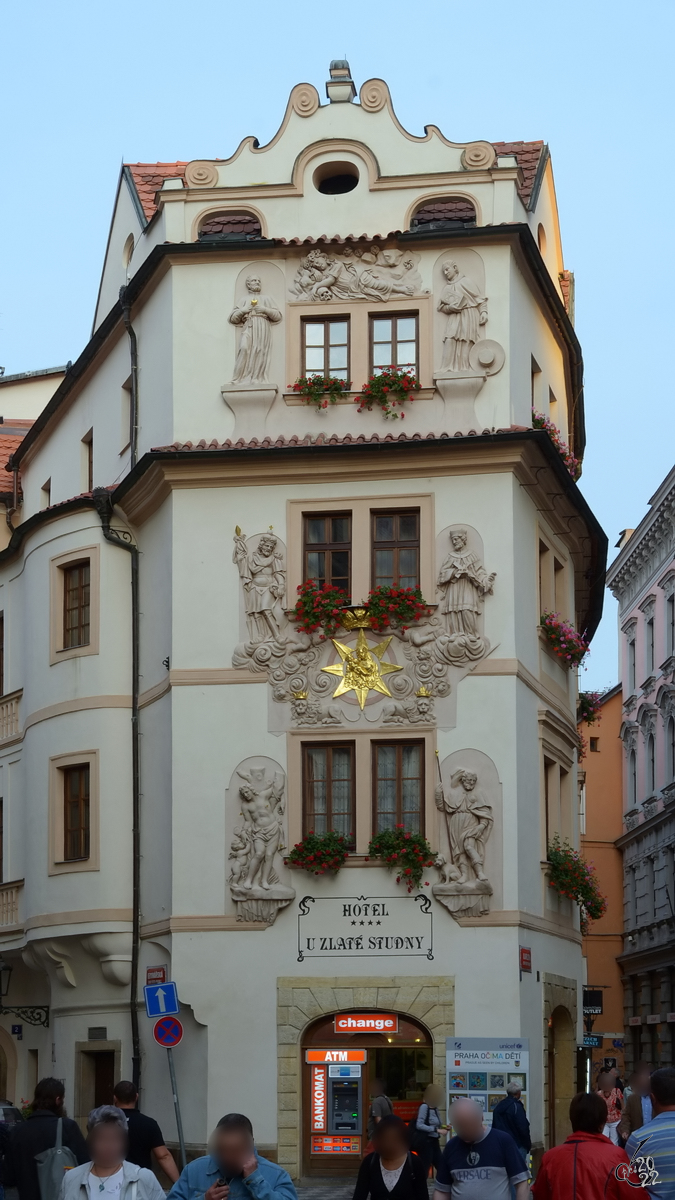
M 545 146 L 413 137 L 344 62 L 327 91 L 267 146 L 124 168 L 0 554 L 7 1087 L 62 1075 L 83 1118 L 135 1069 L 171 1140 L 141 1004 L 165 973 L 190 1146 L 238 1109 L 294 1175 L 354 1170 L 374 1074 L 400 1111 L 434 1079 L 489 1112 L 507 1079 L 449 1076 L 452 1037 L 516 1074 L 528 1039 L 534 1140 L 566 1132 L 581 935 L 545 857 L 579 844 L 577 680 L 539 617 L 592 635 L 607 545 L 532 428 L 581 458 Z M 414 398 L 362 412 L 390 365 Z M 315 373 L 335 404 L 303 403 Z M 309 578 L 351 599 L 325 640 L 292 617 Z M 428 611 L 375 629 L 375 587 Z M 437 856 L 419 890 L 369 854 L 396 826 Z M 330 829 L 339 872 L 288 866 Z

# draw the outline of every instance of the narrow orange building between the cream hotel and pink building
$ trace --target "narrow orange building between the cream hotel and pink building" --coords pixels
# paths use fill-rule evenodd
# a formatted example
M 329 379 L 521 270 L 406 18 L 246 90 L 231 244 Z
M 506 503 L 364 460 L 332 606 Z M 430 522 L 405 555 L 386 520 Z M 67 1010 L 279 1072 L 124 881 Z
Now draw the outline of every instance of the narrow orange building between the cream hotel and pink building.
M 616 840 L 623 833 L 623 694 L 616 684 L 601 697 L 599 719 L 581 722 L 585 757 L 579 772 L 581 853 L 593 863 L 607 912 L 591 922 L 584 937 L 586 990 L 602 1013 L 585 1015 L 586 1033 L 599 1042 L 587 1046 L 589 1084 L 609 1060 L 623 1076 L 623 985 L 617 962 L 623 950 L 623 858 Z M 599 992 L 599 997 L 597 996 Z M 601 1006 L 597 1000 L 601 1000 Z

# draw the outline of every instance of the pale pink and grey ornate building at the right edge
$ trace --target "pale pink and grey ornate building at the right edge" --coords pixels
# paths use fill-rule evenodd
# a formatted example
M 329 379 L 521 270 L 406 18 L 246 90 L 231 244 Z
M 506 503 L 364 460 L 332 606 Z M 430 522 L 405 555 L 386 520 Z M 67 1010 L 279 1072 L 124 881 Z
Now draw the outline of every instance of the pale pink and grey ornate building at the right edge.
M 627 1068 L 673 1066 L 675 1031 L 675 470 L 608 572 L 623 680 L 623 972 Z

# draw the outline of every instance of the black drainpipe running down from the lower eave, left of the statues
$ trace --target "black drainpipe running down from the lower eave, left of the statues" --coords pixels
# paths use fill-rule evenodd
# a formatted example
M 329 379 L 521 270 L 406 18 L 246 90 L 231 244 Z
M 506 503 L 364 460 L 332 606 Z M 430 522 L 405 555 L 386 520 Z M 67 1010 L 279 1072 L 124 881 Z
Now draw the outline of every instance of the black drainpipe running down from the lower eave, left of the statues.
M 103 538 L 131 554 L 131 841 L 132 841 L 132 944 L 129 1009 L 131 1016 L 132 1080 L 141 1091 L 141 1034 L 138 1027 L 138 964 L 141 958 L 141 728 L 138 696 L 141 685 L 141 612 L 138 596 L 138 546 L 126 529 L 112 529 L 113 503 L 107 487 L 95 487 L 94 504 L 101 518 Z

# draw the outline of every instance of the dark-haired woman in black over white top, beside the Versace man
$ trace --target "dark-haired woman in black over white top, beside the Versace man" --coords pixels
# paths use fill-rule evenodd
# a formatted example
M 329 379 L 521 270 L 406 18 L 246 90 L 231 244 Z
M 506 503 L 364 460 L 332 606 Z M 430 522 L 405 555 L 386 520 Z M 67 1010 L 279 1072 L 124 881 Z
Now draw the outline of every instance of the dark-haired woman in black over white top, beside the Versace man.
M 358 1174 L 353 1200 L 429 1200 L 426 1171 L 411 1154 L 408 1127 L 401 1117 L 381 1117 Z

